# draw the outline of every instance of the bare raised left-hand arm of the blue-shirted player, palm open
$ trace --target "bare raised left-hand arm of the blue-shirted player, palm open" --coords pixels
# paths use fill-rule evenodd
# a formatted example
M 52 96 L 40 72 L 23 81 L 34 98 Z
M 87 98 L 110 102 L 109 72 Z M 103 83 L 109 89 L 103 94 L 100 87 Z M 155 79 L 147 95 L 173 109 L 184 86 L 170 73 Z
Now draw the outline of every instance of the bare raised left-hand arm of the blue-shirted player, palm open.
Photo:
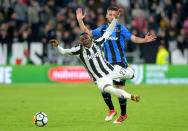
M 78 8 L 78 9 L 76 10 L 76 18 L 77 18 L 77 20 L 78 20 L 78 24 L 79 24 L 79 26 L 80 26 L 80 30 L 81 30 L 82 32 L 88 33 L 88 34 L 90 35 L 90 37 L 92 37 L 92 32 L 91 32 L 91 30 L 89 30 L 89 29 L 85 26 L 85 24 L 84 24 L 84 22 L 83 22 L 83 19 L 84 19 L 85 16 L 86 16 L 86 11 L 84 11 L 84 14 L 83 14 L 82 8 Z

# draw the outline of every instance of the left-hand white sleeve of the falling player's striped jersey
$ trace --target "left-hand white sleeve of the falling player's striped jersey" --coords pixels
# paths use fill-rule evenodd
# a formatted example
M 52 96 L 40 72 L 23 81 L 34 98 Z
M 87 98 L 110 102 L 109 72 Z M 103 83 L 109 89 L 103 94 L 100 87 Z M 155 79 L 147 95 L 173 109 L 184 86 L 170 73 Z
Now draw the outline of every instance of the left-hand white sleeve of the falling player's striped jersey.
M 63 49 L 61 46 L 57 46 L 56 50 L 61 55 L 79 55 L 81 51 L 81 46 L 75 46 L 70 49 Z

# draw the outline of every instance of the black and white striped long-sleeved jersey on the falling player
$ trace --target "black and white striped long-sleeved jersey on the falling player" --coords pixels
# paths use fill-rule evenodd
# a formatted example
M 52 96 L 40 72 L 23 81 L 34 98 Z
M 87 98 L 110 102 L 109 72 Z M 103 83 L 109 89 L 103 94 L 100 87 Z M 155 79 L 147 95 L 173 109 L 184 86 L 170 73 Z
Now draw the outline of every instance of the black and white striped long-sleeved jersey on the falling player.
M 104 60 L 100 46 L 112 34 L 116 23 L 117 19 L 113 19 L 103 36 L 97 40 L 92 41 L 90 48 L 86 48 L 80 44 L 70 49 L 63 49 L 58 46 L 57 51 L 62 55 L 69 54 L 78 56 L 94 81 L 105 77 L 114 70 L 114 67 L 109 62 Z

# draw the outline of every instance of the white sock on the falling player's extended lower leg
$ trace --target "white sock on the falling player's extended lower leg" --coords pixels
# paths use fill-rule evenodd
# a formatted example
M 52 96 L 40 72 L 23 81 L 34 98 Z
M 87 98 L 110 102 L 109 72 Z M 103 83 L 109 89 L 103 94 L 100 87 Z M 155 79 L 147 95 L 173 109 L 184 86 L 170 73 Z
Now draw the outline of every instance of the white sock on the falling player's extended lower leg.
M 104 88 L 104 91 L 106 91 L 112 95 L 115 95 L 118 98 L 123 97 L 123 98 L 131 99 L 131 94 L 127 93 L 126 91 L 124 91 L 122 89 L 117 89 L 112 86 L 108 86 L 108 87 Z

